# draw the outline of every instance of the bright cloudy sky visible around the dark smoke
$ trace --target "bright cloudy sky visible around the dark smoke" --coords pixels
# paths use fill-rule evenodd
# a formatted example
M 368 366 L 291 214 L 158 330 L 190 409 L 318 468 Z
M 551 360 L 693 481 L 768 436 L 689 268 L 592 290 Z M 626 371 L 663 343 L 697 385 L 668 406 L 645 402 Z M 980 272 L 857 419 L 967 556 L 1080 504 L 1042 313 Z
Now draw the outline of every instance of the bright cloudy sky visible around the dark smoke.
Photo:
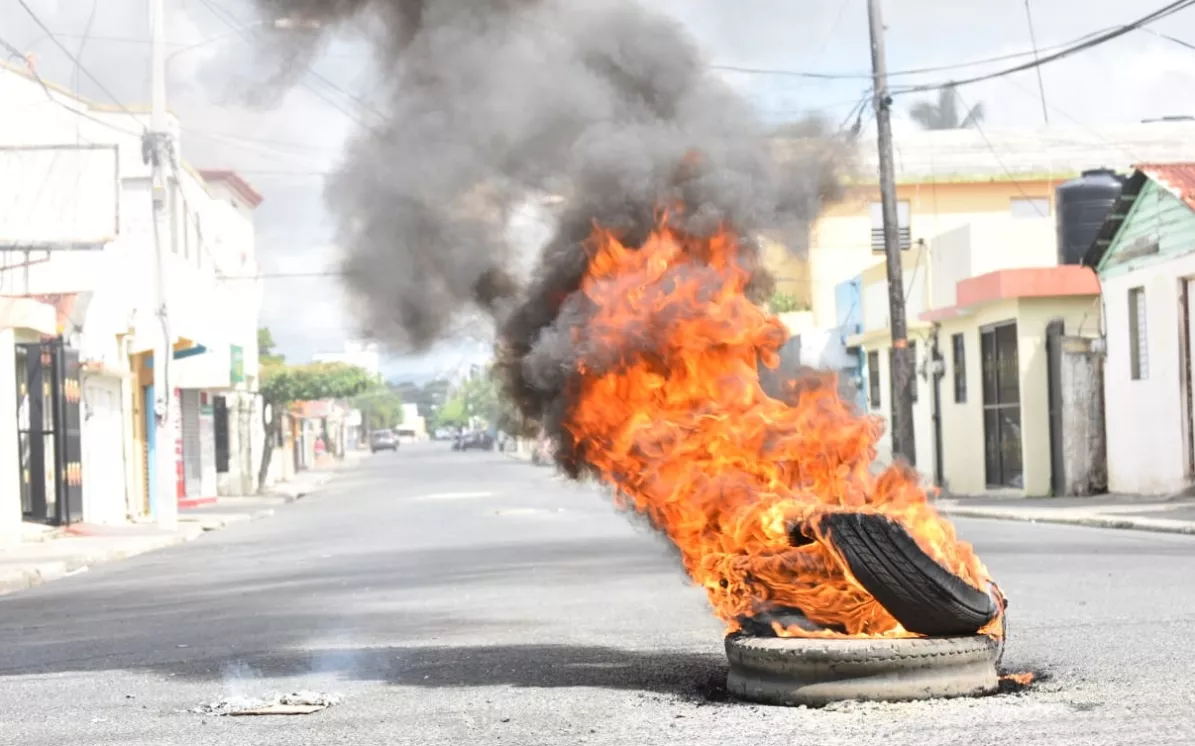
M 367 110 L 374 73 L 361 30 L 343 29 L 310 66 L 294 65 L 271 54 L 270 37 L 246 0 L 165 1 L 168 105 L 182 121 L 183 157 L 201 167 L 235 169 L 265 197 L 256 218 L 266 288 L 262 325 L 290 360 L 341 349 L 363 330 L 335 276 L 338 250 L 323 182 L 344 143 L 375 116 Z M 103 90 L 18 0 L 0 0 L 0 39 L 33 53 L 43 77 L 103 103 L 148 102 L 147 0 L 25 4 Z M 1079 12 L 1074 0 L 1029 0 L 1028 8 L 1037 45 L 1048 51 L 1162 5 L 1085 0 Z M 840 122 L 870 85 L 865 0 L 654 0 L 652 6 L 684 24 L 718 74 L 768 121 L 820 112 Z M 969 65 L 1032 49 L 1024 0 L 887 0 L 883 12 L 894 85 L 967 79 L 1030 59 Z M 1150 27 L 1195 45 L 1195 10 Z M 924 68 L 943 69 L 908 74 Z M 1040 127 L 1047 117 L 1052 126 L 1091 127 L 1195 115 L 1195 49 L 1134 31 L 1043 66 L 1041 84 L 1028 71 L 960 93 L 967 105 L 983 104 L 987 129 Z M 897 137 L 914 127 L 906 114 L 915 100 L 918 94 L 896 97 Z M 534 246 L 546 236 L 546 218 L 529 209 L 519 215 L 510 240 Z M 491 336 L 484 322 L 462 329 L 423 355 L 391 350 L 386 373 L 425 380 L 485 359 Z

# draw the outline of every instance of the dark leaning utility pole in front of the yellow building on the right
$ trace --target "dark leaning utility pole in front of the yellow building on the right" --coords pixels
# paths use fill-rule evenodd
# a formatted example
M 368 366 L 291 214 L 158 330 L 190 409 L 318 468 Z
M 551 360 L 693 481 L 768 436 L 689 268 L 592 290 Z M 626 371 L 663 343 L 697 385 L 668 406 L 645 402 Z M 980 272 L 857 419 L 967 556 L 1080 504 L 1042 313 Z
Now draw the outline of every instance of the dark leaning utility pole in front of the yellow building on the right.
M 893 335 L 891 385 L 893 455 L 912 464 L 913 453 L 913 361 L 909 359 L 908 329 L 905 323 L 905 280 L 901 267 L 900 218 L 896 212 L 896 169 L 893 165 L 891 97 L 888 94 L 888 63 L 884 60 L 884 22 L 880 0 L 868 0 L 871 25 L 871 71 L 875 87 L 876 129 L 880 132 L 880 201 L 884 218 L 884 256 L 888 261 L 888 313 Z

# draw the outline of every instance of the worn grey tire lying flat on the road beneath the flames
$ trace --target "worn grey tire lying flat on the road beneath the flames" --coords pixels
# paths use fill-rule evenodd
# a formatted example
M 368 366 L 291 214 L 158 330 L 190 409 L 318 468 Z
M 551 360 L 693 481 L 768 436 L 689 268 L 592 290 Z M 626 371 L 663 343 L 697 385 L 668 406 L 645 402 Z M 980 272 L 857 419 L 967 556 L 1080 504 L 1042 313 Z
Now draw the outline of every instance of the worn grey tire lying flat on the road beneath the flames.
M 727 637 L 731 695 L 761 704 L 905 702 L 995 692 L 1001 643 L 986 635 L 909 638 Z

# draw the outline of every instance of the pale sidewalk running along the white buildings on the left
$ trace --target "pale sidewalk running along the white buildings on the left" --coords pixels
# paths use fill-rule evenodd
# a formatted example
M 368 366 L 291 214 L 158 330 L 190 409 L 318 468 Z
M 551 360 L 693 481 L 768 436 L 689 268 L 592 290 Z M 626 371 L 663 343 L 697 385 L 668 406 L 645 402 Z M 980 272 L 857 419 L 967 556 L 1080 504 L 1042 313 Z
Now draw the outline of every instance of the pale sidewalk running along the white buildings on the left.
M 183 544 L 208 531 L 272 515 L 277 506 L 314 493 L 337 472 L 360 461 L 361 458 L 349 458 L 335 466 L 300 472 L 294 479 L 266 489 L 265 495 L 219 497 L 208 505 L 182 509 L 176 531 L 164 531 L 154 524 L 78 524 L 68 528 L 26 524 L 24 542 L 0 546 L 0 595 L 82 573 L 93 564 Z

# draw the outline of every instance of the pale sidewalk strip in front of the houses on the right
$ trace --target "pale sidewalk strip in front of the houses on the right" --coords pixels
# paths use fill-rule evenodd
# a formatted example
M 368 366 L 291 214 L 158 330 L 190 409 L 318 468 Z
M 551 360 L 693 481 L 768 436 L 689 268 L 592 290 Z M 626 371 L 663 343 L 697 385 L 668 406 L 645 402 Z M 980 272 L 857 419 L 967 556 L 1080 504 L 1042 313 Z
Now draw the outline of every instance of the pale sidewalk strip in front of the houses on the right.
M 1095 495 L 1091 497 L 942 497 L 934 503 L 956 518 L 1073 524 L 1195 534 L 1195 497 Z

